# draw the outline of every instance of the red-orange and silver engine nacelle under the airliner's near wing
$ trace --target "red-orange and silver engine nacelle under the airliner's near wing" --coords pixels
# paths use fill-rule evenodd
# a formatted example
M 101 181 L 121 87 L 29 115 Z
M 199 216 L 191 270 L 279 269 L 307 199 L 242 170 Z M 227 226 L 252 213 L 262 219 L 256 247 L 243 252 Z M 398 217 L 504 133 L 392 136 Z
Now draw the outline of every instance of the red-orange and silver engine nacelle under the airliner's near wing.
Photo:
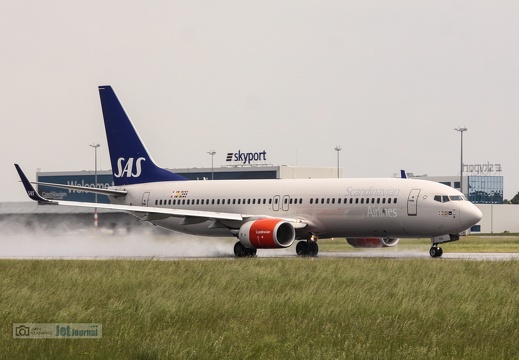
M 285 248 L 296 239 L 296 231 L 282 219 L 260 219 L 243 224 L 238 239 L 249 249 Z

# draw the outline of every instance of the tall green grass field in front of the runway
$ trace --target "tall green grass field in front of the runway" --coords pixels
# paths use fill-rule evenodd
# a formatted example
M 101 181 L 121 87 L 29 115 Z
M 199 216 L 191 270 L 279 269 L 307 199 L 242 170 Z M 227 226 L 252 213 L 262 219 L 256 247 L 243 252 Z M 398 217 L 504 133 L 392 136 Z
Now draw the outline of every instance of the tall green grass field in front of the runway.
M 517 261 L 1 260 L 0 274 L 1 358 L 519 358 Z M 103 337 L 13 339 L 19 322 Z

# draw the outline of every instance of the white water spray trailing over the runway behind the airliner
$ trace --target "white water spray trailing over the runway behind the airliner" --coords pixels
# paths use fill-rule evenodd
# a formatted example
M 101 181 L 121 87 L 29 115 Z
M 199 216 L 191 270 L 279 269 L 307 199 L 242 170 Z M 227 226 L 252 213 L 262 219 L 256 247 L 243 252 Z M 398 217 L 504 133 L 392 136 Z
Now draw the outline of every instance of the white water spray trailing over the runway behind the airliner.
M 0 222 L 0 258 L 111 259 L 234 257 L 234 240 L 180 233 L 162 234 L 152 226 L 95 230 L 74 223 L 32 226 Z

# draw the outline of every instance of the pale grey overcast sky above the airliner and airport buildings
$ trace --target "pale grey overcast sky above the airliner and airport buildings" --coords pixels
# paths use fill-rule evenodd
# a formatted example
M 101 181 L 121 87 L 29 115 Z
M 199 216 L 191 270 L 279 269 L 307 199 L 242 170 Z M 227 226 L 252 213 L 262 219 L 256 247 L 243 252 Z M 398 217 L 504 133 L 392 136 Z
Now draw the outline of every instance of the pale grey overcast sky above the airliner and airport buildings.
M 0 201 L 27 200 L 13 163 L 109 158 L 98 85 L 112 85 L 165 167 L 274 165 L 347 177 L 459 175 L 499 163 L 519 191 L 517 1 L 5 1 Z

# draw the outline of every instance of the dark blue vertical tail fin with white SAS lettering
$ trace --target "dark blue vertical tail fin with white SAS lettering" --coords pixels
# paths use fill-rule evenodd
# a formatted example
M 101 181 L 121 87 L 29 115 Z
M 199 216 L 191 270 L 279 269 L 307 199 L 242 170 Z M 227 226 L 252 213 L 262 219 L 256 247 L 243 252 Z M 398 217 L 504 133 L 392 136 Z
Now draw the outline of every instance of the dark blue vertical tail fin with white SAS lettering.
M 99 86 L 99 95 L 115 185 L 187 180 L 153 162 L 111 86 Z

